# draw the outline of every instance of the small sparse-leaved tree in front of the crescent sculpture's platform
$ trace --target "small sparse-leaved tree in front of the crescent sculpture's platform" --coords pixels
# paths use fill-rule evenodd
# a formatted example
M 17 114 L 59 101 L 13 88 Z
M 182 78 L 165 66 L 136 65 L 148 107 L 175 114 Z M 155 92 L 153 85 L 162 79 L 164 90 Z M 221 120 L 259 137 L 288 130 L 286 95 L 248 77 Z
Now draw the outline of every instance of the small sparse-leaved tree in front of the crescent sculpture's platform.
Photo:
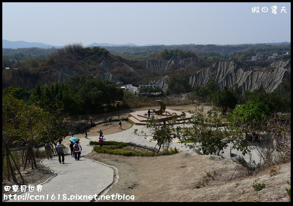
M 166 124 L 162 124 L 159 118 L 155 118 L 155 116 L 152 115 L 151 120 L 147 122 L 143 130 L 139 132 L 138 129 L 135 129 L 133 134 L 142 136 L 144 139 L 149 139 L 150 142 L 156 141 L 157 144 L 155 145 L 154 149 L 158 145 L 159 152 L 161 147 L 166 147 L 168 149 L 173 139 L 179 137 L 179 134 L 173 132 L 173 127 L 175 124 L 176 118 L 169 117 L 166 120 Z

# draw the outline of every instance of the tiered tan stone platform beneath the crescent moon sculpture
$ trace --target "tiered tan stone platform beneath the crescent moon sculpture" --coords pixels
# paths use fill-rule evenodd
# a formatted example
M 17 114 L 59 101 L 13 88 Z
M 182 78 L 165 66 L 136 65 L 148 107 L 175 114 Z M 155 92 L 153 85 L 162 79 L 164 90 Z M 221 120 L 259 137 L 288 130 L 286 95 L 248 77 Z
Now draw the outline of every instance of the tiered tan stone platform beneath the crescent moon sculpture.
M 163 123 L 164 119 L 167 120 L 167 118 L 174 116 L 175 114 L 173 114 L 173 113 L 176 113 L 176 115 L 177 115 L 177 120 L 176 120 L 176 122 L 178 122 L 177 124 L 186 123 L 186 120 L 191 118 L 190 113 L 186 113 L 186 117 L 183 119 L 180 117 L 182 112 L 178 112 L 178 111 L 171 110 L 171 109 L 166 109 L 165 111 L 169 112 L 172 115 L 169 115 L 168 113 L 167 113 L 167 116 L 166 116 L 166 113 L 163 113 L 162 115 L 157 115 L 152 112 L 151 112 L 151 115 L 154 115 L 155 119 L 159 119 L 162 123 Z M 130 122 L 132 122 L 134 125 L 146 125 L 147 122 L 151 120 L 151 115 L 150 115 L 150 117 L 148 117 L 147 112 L 148 112 L 148 110 L 142 110 L 142 111 L 128 113 L 128 115 L 129 115 L 128 120 Z M 166 124 L 168 125 L 168 122 L 166 122 Z

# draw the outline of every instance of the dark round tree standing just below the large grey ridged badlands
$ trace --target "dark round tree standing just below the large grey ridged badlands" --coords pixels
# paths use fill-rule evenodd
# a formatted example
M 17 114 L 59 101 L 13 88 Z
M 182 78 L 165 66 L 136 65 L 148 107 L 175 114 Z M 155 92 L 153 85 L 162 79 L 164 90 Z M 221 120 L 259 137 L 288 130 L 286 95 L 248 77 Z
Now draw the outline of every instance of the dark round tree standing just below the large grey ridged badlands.
M 224 86 L 222 91 L 217 91 L 212 102 L 217 107 L 222 108 L 223 113 L 226 113 L 228 108 L 231 110 L 235 108 L 238 103 L 238 98 L 234 95 L 234 89 L 228 89 L 227 86 Z

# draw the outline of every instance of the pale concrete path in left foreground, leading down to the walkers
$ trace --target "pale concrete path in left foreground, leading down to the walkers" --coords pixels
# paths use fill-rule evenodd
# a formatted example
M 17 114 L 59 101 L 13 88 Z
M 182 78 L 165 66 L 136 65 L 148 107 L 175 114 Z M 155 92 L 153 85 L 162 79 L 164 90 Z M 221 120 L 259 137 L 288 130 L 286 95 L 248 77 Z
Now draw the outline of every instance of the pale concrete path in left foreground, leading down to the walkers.
M 90 139 L 81 139 L 80 141 L 82 147 L 81 156 L 90 153 L 93 149 L 93 147 L 87 146 L 92 139 L 91 137 L 89 138 Z M 81 160 L 75 161 L 74 158 L 71 158 L 71 155 L 65 155 L 64 162 L 65 164 L 60 164 L 58 156 L 49 160 L 45 158 L 42 163 L 58 175 L 43 184 L 41 192 L 38 192 L 37 188 L 35 188 L 34 192 L 27 191 L 21 194 L 24 198 L 25 195 L 28 194 L 44 195 L 45 200 L 21 199 L 8 200 L 8 202 L 89 202 L 90 200 L 76 200 L 75 198 L 73 200 L 68 200 L 68 198 L 70 198 L 70 195 L 98 195 L 113 183 L 114 170 L 110 166 L 99 164 L 98 162 L 83 157 L 81 157 Z M 60 198 L 58 200 L 59 194 Z M 66 194 L 66 200 L 63 199 L 63 194 Z M 54 200 L 51 198 L 52 195 L 55 196 Z

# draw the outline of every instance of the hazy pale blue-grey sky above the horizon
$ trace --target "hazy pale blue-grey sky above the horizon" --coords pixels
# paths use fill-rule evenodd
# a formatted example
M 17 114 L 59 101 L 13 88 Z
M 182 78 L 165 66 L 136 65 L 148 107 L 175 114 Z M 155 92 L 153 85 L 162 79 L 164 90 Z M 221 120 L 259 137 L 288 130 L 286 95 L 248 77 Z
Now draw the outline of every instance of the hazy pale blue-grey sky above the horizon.
M 2 2 L 2 39 L 55 46 L 291 42 L 291 3 Z

